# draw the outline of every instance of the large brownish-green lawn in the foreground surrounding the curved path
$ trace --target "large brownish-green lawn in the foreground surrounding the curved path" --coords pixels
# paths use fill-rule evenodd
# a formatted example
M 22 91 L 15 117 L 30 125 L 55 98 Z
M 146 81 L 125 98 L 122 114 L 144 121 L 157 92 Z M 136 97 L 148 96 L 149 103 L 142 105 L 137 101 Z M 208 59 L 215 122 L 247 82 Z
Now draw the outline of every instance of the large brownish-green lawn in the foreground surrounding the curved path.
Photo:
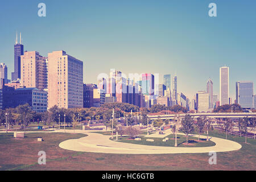
M 225 134 L 210 131 L 210 136 Z M 44 142 L 37 142 L 43 137 Z M 0 134 L 0 170 L 256 170 L 256 142 L 228 136 L 242 144 L 241 150 L 217 153 L 217 165 L 209 165 L 208 154 L 127 155 L 64 150 L 59 143 L 83 134 L 30 133 L 24 139 Z M 38 152 L 46 151 L 46 165 L 39 165 Z

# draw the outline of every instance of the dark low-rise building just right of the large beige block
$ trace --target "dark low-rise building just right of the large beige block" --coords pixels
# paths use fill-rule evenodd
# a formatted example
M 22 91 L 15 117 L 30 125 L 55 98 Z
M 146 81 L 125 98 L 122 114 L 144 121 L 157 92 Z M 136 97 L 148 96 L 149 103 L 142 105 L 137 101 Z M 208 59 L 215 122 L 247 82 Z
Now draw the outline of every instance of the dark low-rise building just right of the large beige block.
M 97 89 L 97 85 L 84 84 L 84 108 L 93 107 L 93 89 Z

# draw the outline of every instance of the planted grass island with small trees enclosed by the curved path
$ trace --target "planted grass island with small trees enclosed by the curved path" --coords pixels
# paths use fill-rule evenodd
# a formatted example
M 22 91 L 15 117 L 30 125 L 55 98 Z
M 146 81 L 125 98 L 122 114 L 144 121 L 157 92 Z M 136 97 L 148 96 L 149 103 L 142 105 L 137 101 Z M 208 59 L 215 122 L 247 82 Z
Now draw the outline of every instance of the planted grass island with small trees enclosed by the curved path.
M 164 137 L 166 138 L 166 137 Z M 175 139 L 174 135 L 168 135 L 166 142 L 163 142 L 164 138 L 150 138 L 154 139 L 154 142 L 147 142 L 147 137 L 141 137 L 141 140 L 134 140 L 130 139 L 130 137 L 118 137 L 117 142 L 125 142 L 125 143 L 133 143 L 133 144 L 144 144 L 148 146 L 163 146 L 163 147 L 174 147 L 175 145 Z M 116 139 L 114 137 L 114 139 Z M 212 141 L 206 141 L 206 139 L 200 139 L 200 142 L 198 141 L 198 138 L 195 137 L 188 137 L 188 145 L 186 144 L 186 137 L 184 135 L 177 135 L 177 146 L 178 147 L 210 147 L 214 146 L 215 143 Z

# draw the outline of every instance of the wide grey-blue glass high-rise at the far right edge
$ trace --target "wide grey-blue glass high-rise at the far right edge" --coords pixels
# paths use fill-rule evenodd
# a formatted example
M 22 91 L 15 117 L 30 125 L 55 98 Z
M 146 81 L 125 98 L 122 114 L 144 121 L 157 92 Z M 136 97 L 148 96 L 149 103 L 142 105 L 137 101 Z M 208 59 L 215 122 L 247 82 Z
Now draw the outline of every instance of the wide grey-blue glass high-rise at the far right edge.
M 236 82 L 236 100 L 242 108 L 252 109 L 254 106 L 253 82 L 238 81 Z

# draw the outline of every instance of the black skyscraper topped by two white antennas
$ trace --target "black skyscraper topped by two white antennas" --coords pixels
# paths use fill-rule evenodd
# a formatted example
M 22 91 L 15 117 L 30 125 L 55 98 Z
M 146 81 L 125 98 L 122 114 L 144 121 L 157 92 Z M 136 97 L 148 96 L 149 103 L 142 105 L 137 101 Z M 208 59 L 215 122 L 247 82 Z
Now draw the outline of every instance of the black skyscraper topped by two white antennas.
M 20 78 L 20 56 L 24 53 L 24 47 L 22 45 L 22 38 L 20 33 L 20 43 L 18 43 L 18 35 L 16 34 L 16 41 L 14 45 L 14 72 L 11 73 L 11 81 Z

